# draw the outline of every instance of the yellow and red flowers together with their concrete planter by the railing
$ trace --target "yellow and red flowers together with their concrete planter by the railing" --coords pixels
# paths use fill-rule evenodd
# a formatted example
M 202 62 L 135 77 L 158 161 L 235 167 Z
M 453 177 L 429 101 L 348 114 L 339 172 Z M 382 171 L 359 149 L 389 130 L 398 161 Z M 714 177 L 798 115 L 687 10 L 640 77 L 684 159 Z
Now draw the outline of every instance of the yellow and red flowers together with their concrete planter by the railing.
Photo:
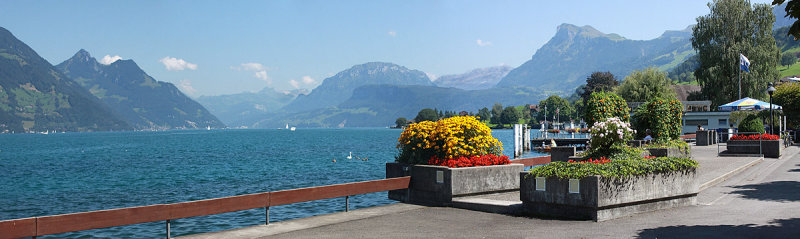
M 453 197 L 519 189 L 517 174 L 524 166 L 510 164 L 502 143 L 475 117 L 411 124 L 397 148 L 397 163 L 386 164 L 386 178 L 411 176 L 411 184 L 390 191 L 390 199 L 449 206 Z

